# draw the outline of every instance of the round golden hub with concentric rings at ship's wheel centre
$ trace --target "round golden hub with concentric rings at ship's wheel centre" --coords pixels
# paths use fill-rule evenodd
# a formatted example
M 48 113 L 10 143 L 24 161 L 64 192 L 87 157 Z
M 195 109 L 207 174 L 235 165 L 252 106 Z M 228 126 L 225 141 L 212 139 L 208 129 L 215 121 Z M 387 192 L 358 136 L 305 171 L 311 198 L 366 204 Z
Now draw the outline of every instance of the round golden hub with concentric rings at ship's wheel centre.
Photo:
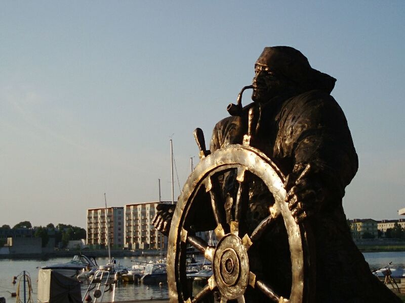
M 238 236 L 227 234 L 218 243 L 213 272 L 221 295 L 227 299 L 245 293 L 249 281 L 249 258 Z

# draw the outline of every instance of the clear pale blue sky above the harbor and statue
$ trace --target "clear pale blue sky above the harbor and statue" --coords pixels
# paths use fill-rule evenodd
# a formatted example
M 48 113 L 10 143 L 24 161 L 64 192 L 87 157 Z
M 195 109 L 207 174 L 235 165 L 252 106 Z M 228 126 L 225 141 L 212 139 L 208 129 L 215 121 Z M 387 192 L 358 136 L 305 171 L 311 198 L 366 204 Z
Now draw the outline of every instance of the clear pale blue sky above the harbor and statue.
M 337 78 L 359 171 L 348 218 L 405 207 L 405 2 L 2 1 L 0 226 L 86 226 L 86 209 L 171 199 L 264 46 Z M 250 92 L 244 103 L 250 102 Z

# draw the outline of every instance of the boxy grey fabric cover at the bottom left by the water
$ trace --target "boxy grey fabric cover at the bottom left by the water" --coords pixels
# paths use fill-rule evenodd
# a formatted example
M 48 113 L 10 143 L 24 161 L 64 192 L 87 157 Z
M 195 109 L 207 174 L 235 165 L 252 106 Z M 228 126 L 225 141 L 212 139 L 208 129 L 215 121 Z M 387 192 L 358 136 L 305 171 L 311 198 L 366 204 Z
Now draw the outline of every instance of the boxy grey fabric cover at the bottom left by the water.
M 38 303 L 82 303 L 80 282 L 52 269 L 40 269 Z

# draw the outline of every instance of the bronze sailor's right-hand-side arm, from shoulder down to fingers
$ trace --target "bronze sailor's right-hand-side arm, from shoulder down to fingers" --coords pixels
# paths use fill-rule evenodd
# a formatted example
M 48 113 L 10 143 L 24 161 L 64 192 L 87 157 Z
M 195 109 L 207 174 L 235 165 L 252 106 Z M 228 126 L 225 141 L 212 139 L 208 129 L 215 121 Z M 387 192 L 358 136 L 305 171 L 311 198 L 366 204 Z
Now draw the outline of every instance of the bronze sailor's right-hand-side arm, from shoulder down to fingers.
M 358 167 L 346 118 L 333 97 L 301 97 L 280 125 L 295 164 L 285 185 L 297 221 L 340 203 Z

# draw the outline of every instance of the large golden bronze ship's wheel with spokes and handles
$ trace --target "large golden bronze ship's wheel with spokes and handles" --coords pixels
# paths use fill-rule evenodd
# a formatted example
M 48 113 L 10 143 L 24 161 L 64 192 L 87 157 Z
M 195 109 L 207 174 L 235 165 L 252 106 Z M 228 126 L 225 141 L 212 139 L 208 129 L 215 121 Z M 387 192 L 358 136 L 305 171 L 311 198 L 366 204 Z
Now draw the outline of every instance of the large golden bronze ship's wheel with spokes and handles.
M 242 145 L 230 145 L 210 154 L 205 147 L 203 132 L 198 128 L 194 131 L 200 149 L 200 162 L 183 187 L 169 235 L 168 283 L 171 302 L 200 302 L 214 292 L 220 293 L 221 303 L 257 301 L 251 299 L 252 296 L 255 297 L 255 292 L 259 292 L 268 302 L 312 301 L 314 268 L 310 260 L 313 259 L 313 251 L 308 243 L 311 234 L 306 223 L 297 224 L 288 209 L 285 202 L 286 190 L 283 186 L 285 176 L 268 157 L 251 146 L 255 133 L 254 110 L 254 107 L 250 109 L 248 134 L 245 135 Z M 233 190 L 233 196 L 224 198 L 221 192 L 221 176 L 231 171 L 235 174 L 236 188 Z M 249 228 L 247 223 L 249 176 L 260 179 L 274 197 L 267 209 L 268 213 L 263 214 L 264 219 L 255 228 Z M 228 209 L 232 210 L 232 215 L 225 214 L 225 204 L 231 205 Z M 210 208 L 212 211 L 209 213 L 213 218 L 201 218 L 198 214 L 201 208 Z M 262 237 L 271 231 L 277 220 L 284 222 L 290 250 L 290 256 L 286 258 L 291 259 L 291 273 L 288 273 L 291 284 L 287 293 L 282 294 L 266 280 L 265 275 L 255 272 L 257 266 L 252 265 L 257 263 L 257 253 L 251 255 L 252 247 L 262 241 Z M 216 246 L 210 246 L 195 235 L 198 230 L 194 226 L 195 221 L 212 222 L 210 229 L 214 230 L 218 240 Z M 191 293 L 191 289 L 187 287 L 187 245 L 201 251 L 204 257 L 212 262 L 213 275 L 198 293 Z M 277 247 L 272 249 L 276 250 Z M 271 272 L 267 274 L 276 275 Z

